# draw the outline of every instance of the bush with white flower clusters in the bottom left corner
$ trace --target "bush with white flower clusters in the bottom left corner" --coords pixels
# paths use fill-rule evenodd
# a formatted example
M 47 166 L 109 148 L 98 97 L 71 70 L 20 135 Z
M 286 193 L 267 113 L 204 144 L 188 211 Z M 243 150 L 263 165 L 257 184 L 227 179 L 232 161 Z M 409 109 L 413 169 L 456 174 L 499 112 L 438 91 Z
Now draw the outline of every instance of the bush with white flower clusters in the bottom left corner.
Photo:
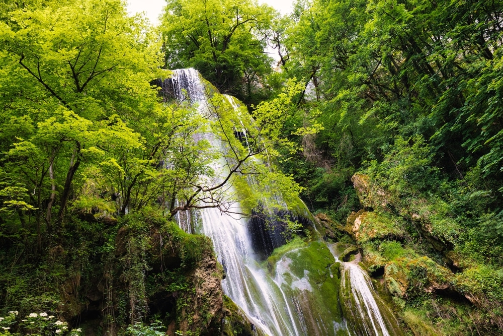
M 68 323 L 56 319 L 46 312 L 30 313 L 25 318 L 17 320 L 19 313 L 10 311 L 7 316 L 0 317 L 0 336 L 80 336 L 80 328 L 68 330 Z M 16 330 L 16 332 L 14 332 Z M 20 333 L 23 331 L 23 333 Z

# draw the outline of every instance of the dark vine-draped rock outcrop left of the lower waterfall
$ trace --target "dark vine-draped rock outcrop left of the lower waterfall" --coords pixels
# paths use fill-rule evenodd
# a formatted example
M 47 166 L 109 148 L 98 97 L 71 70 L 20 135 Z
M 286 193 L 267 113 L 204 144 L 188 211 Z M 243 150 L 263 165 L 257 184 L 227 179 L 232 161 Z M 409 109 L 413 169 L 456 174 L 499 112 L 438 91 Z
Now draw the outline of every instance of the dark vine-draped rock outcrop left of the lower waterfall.
M 143 242 L 141 247 L 135 245 L 138 239 Z M 175 336 L 178 331 L 201 336 L 219 334 L 224 316 L 223 272 L 209 238 L 188 235 L 178 227 L 152 225 L 138 231 L 131 226 L 123 226 L 115 239 L 115 259 L 111 261 L 114 272 L 127 274 L 130 266 L 125 260 L 134 259 L 132 253 L 141 253 L 145 258 L 145 277 L 136 280 L 151 286 L 150 290 L 143 292 L 148 305 L 146 313 L 148 316 L 167 316 L 163 320 L 168 326 L 167 335 Z M 112 300 L 116 316 L 121 313 L 117 310 L 118 300 L 138 290 L 135 288 L 141 288 L 134 280 L 124 276 L 114 278 Z M 105 292 L 102 283 L 90 288 L 86 295 L 91 304 L 83 313 L 92 312 L 91 309 L 102 313 Z M 96 307 L 94 302 L 97 302 Z M 92 323 L 101 323 L 101 315 L 97 322 Z

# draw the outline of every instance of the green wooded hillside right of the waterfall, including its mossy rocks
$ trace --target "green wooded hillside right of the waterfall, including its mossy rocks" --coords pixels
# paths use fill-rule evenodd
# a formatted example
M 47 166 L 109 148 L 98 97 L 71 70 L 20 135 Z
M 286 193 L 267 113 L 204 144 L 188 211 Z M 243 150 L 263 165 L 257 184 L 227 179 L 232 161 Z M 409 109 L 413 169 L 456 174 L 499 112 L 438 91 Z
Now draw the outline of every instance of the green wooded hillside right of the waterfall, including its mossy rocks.
M 419 334 L 501 326 L 501 291 L 485 275 L 499 279 L 503 266 L 502 12 L 483 1 L 298 1 L 278 38 L 283 75 L 305 83 L 297 109 L 322 125 L 309 137 L 283 132 L 304 149 L 281 164 L 306 204 L 344 223 L 359 208 L 350 178 L 366 173 L 363 206 L 383 218 L 363 216 L 358 231 L 372 271 L 428 255 L 458 265 L 456 290 L 477 297 L 436 314 L 449 298 L 419 295 L 423 266 L 403 265 L 415 292 L 402 317 Z

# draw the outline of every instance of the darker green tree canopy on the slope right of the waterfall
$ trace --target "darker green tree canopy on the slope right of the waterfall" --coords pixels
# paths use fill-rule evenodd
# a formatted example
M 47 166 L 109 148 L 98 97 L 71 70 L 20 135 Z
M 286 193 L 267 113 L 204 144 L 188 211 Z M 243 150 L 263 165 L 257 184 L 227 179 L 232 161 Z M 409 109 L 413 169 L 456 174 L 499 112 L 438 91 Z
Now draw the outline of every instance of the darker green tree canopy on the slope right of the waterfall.
M 451 158 L 440 160 L 449 170 L 478 162 L 500 174 L 500 4 L 317 0 L 297 9 L 285 68 L 312 83 L 318 122 L 333 130 L 318 146 L 337 153 L 349 133 L 372 159 L 392 137 L 421 135 L 439 160 Z

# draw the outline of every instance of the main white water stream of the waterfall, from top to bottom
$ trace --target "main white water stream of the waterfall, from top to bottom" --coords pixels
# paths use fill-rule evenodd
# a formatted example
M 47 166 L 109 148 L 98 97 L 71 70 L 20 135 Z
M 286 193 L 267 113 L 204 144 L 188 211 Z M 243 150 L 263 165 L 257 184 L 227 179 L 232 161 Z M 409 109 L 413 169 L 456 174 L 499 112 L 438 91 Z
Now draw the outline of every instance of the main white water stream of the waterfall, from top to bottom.
M 186 95 L 198 105 L 200 112 L 205 110 L 208 97 L 204 93 L 199 74 L 193 69 L 177 70 L 172 78 L 174 96 L 183 100 Z M 185 92 L 184 92 L 185 91 Z M 209 135 L 214 147 L 225 152 L 223 143 Z M 227 174 L 225 162 L 214 164 L 216 179 Z M 220 176 L 219 176 L 220 174 Z M 207 181 L 211 183 L 211 181 Z M 233 194 L 232 186 L 226 190 Z M 199 216 L 203 233 L 209 236 L 215 247 L 219 261 L 224 267 L 226 278 L 222 281 L 224 292 L 246 313 L 253 323 L 269 335 L 303 335 L 302 323 L 296 319 L 296 312 L 286 300 L 281 288 L 267 277 L 254 258 L 253 248 L 246 230 L 246 221 L 229 213 L 241 213 L 238 203 L 233 203 L 227 212 L 218 208 L 203 209 Z M 186 216 L 189 217 L 189 216 Z

